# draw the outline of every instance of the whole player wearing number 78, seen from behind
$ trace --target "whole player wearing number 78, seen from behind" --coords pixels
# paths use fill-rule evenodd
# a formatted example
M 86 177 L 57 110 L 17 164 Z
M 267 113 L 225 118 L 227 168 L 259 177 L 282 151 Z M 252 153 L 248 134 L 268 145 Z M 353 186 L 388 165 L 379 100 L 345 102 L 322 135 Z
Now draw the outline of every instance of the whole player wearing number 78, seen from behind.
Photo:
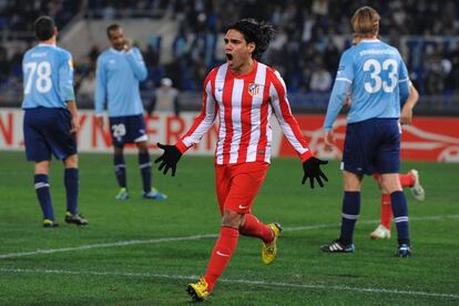
M 51 154 L 64 163 L 64 221 L 86 225 L 78 213 L 79 171 L 75 133 L 79 126 L 73 92 L 72 55 L 55 45 L 58 29 L 50 17 L 34 23 L 39 44 L 22 60 L 26 155 L 34 162 L 34 185 L 43 212 L 43 227 L 55 227 L 48 175 Z

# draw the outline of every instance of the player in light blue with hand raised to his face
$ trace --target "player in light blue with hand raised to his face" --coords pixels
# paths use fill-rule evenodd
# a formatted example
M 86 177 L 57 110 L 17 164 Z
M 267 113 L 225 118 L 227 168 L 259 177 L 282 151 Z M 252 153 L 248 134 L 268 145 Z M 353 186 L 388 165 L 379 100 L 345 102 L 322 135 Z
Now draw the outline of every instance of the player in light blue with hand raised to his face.
M 109 124 L 114 147 L 113 164 L 120 185 L 116 200 L 128 200 L 126 165 L 123 149 L 135 143 L 139 150 L 139 167 L 142 175 L 143 198 L 165 200 L 167 196 L 152 187 L 152 173 L 143 105 L 139 82 L 145 80 L 147 71 L 142 53 L 124 38 L 119 24 L 106 28 L 112 45 L 98 58 L 95 114 L 103 126 L 103 110 L 106 103 Z

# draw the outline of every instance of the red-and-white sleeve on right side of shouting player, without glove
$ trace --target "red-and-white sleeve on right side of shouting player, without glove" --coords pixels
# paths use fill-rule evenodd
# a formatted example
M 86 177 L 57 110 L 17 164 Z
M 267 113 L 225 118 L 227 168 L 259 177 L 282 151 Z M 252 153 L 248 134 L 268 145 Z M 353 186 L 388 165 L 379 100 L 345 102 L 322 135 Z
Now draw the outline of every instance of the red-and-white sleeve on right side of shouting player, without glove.
M 308 160 L 313 156 L 313 153 L 303 137 L 298 122 L 292 114 L 285 82 L 277 71 L 273 73 L 273 81 L 269 85 L 269 99 L 284 135 L 298 153 L 302 162 Z

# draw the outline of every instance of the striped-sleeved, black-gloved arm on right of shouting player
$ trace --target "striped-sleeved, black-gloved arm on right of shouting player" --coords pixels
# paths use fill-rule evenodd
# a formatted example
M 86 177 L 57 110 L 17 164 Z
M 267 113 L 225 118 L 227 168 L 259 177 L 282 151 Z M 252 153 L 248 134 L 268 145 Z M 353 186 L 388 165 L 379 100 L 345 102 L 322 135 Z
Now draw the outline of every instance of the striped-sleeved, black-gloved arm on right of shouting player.
M 271 103 L 284 135 L 302 159 L 304 172 L 302 184 L 305 184 L 309 178 L 312 188 L 314 188 L 315 180 L 319 186 L 323 187 L 324 183 L 322 180 L 328 182 L 328 178 L 324 172 L 322 172 L 320 165 L 327 164 L 328 162 L 313 156 L 307 142 L 303 137 L 298 122 L 292 114 L 286 86 L 278 72 L 274 73 L 272 81 L 269 88 Z

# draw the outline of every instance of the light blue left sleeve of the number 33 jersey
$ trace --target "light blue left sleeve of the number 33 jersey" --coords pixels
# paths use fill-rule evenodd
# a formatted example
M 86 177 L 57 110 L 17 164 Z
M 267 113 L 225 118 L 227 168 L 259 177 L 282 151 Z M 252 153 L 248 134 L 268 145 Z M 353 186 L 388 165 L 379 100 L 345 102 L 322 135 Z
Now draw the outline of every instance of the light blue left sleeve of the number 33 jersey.
M 325 115 L 324 130 L 330 131 L 333 123 L 338 116 L 339 111 L 354 82 L 354 62 L 349 52 L 345 52 L 339 60 L 335 84 L 333 85 L 330 99 L 328 101 L 327 114 Z

